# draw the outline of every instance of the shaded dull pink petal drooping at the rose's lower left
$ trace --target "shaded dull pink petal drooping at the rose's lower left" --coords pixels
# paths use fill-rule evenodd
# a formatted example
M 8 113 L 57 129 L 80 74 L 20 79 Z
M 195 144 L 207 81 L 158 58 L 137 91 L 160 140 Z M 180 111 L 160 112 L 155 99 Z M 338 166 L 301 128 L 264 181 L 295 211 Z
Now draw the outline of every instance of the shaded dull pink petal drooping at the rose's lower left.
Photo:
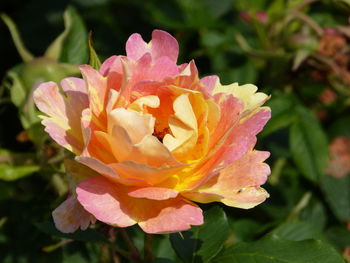
M 63 233 L 72 233 L 78 228 L 85 230 L 96 219 L 87 212 L 75 197 L 70 197 L 52 212 L 56 228 Z

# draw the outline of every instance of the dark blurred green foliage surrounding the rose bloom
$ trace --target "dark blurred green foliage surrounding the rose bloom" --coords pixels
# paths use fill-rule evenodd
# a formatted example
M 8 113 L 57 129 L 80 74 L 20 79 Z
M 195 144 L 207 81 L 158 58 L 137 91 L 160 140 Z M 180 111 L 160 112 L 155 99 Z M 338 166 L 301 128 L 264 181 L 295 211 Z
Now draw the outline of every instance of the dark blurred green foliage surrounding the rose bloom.
M 128 262 L 124 249 L 136 261 L 137 251 L 147 258 L 153 250 L 154 262 L 164 263 L 337 263 L 340 255 L 350 262 L 349 0 L 5 0 L 0 7 L 0 262 Z M 44 133 L 33 88 L 98 63 L 92 42 L 103 61 L 125 54 L 132 33 L 149 40 L 155 28 L 177 38 L 179 62 L 194 59 L 201 76 L 271 94 L 272 119 L 257 146 L 271 152 L 271 197 L 248 211 L 203 206 L 204 226 L 156 236 L 151 248 L 137 227 L 59 233 L 51 211 L 67 196 L 67 153 Z M 269 259 L 254 258 L 259 253 Z

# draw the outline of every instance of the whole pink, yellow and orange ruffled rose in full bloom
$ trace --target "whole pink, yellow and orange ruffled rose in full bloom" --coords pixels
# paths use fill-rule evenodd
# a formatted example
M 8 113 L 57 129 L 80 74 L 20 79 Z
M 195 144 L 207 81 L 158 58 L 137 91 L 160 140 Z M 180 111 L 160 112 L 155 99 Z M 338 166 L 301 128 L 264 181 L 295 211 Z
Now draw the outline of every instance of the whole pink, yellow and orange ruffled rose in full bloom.
M 133 34 L 126 56 L 35 90 L 45 130 L 76 155 L 66 162 L 72 195 L 53 212 L 60 231 L 96 219 L 183 231 L 203 223 L 194 202 L 251 208 L 268 197 L 260 185 L 269 153 L 253 149 L 270 118 L 267 96 L 200 79 L 194 61 L 176 64 L 178 50 L 166 32 L 153 31 L 149 43 Z

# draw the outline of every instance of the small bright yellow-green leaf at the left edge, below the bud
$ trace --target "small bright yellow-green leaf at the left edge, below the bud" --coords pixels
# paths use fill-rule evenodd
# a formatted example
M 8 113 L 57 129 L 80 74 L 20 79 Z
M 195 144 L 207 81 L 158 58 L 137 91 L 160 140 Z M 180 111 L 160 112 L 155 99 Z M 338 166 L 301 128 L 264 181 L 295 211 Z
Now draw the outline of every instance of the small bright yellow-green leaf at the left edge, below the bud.
M 0 164 L 0 180 L 15 181 L 40 170 L 38 165 L 12 166 Z

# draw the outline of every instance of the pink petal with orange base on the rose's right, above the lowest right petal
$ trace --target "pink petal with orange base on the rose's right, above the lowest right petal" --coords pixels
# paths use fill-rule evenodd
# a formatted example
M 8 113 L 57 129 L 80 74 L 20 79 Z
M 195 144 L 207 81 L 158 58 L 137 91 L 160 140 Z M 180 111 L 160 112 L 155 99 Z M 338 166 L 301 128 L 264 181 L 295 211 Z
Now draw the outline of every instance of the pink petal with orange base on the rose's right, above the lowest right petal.
M 234 102 L 234 100 L 231 102 Z M 231 102 L 230 100 L 226 101 L 226 106 L 231 105 Z M 235 103 L 232 105 L 235 105 Z M 270 109 L 261 108 L 260 111 L 249 118 L 244 118 L 243 122 L 240 122 L 239 112 L 239 108 L 232 107 L 229 114 L 221 115 L 217 131 L 211 136 L 212 140 L 217 141 L 216 145 L 203 159 L 202 163 L 190 171 L 191 175 L 185 177 L 182 184 L 177 186 L 178 190 L 189 190 L 199 187 L 203 182 L 215 175 L 219 169 L 238 160 L 254 147 L 256 135 L 270 118 Z M 235 115 L 237 115 L 236 119 L 232 119 Z M 227 119 L 225 120 L 225 118 Z M 231 125 L 231 127 L 227 124 Z

